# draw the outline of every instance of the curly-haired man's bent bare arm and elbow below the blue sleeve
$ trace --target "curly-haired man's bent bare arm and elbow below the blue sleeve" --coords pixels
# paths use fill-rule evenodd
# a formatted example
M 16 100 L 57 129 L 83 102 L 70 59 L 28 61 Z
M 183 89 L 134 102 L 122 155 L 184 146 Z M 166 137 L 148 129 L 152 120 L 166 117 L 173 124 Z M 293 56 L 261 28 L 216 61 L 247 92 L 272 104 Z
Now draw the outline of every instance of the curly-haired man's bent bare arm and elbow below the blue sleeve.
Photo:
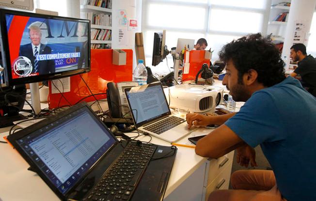
M 246 143 L 223 124 L 198 140 L 195 153 L 204 157 L 218 158 L 244 145 Z

